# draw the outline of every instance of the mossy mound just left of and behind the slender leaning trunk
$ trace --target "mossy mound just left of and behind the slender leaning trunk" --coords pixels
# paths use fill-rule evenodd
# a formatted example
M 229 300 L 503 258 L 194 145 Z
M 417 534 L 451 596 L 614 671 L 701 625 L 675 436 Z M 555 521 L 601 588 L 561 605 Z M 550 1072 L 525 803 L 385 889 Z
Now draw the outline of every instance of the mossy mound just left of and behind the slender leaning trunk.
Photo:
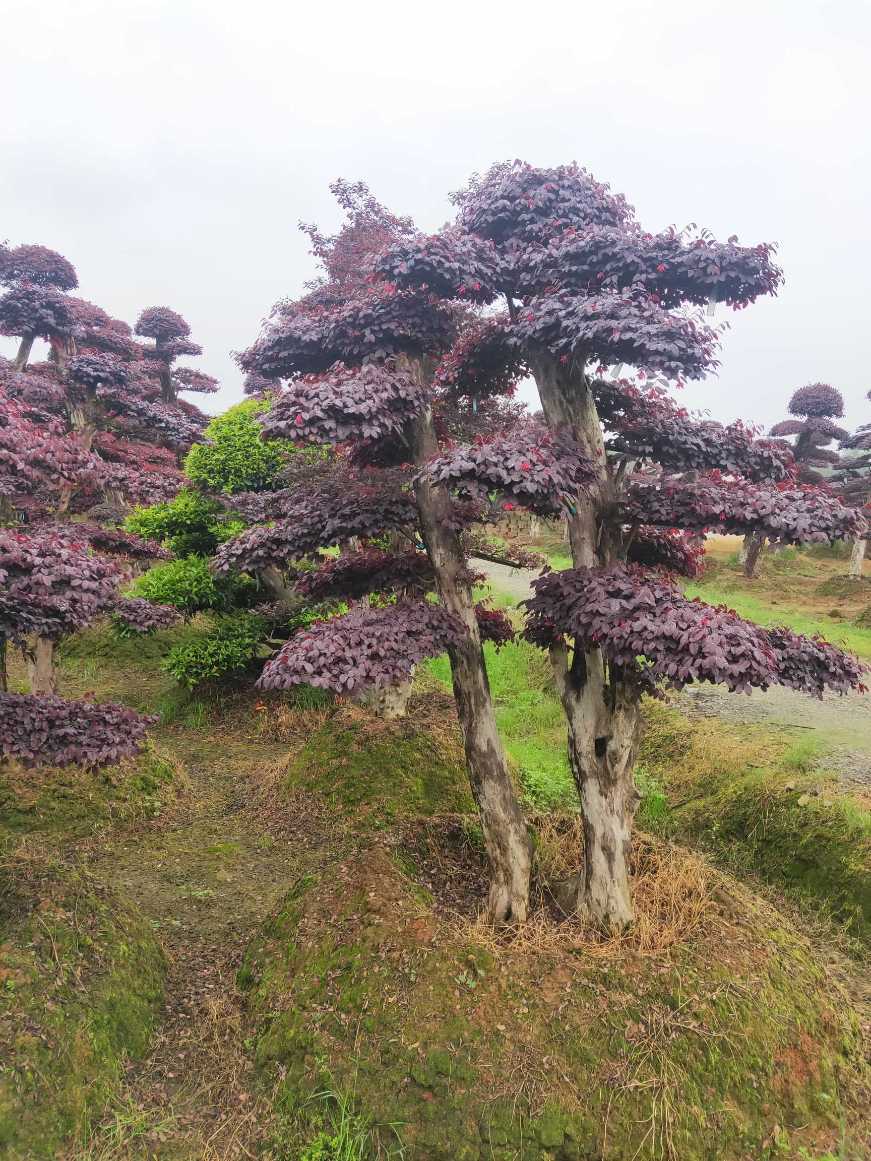
M 415 698 L 395 720 L 341 705 L 290 759 L 286 786 L 369 827 L 474 809 L 454 700 L 442 693 Z

